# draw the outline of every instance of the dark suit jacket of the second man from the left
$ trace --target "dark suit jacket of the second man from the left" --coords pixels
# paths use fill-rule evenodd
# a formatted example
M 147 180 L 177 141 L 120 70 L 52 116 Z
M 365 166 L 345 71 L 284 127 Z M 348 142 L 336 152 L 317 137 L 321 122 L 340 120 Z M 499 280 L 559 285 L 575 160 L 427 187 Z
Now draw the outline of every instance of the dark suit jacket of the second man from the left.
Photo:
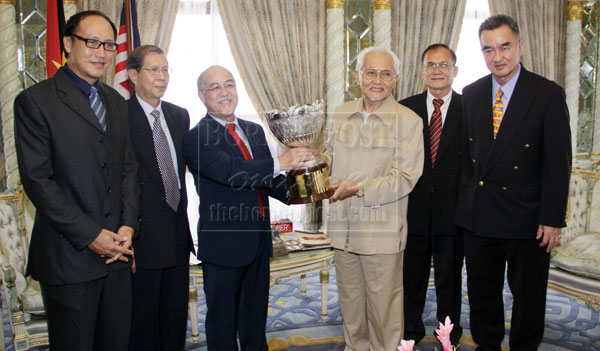
M 194 247 L 187 217 L 185 161 L 182 150 L 183 136 L 190 128 L 190 117 L 186 109 L 166 101 L 161 103 L 161 107 L 177 156 L 177 170 L 181 184 L 181 200 L 177 212 L 174 212 L 165 200 L 165 189 L 156 160 L 152 128 L 148 118 L 137 96 L 127 101 L 129 132 L 139 163 L 137 178 L 141 188 L 140 231 L 133 246 L 137 267 L 146 269 L 175 266 L 178 241 L 180 245 L 188 245 L 191 250 Z M 188 261 L 188 257 L 185 261 Z

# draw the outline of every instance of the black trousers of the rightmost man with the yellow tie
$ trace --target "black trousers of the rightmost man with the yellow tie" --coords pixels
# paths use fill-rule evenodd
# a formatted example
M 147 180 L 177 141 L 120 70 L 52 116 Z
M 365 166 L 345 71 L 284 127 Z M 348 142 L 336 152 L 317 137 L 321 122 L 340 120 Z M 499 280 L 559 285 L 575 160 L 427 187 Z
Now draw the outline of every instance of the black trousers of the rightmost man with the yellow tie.
M 504 275 L 513 295 L 511 351 L 535 351 L 544 335 L 550 254 L 536 239 L 465 233 L 471 332 L 480 351 L 500 351 L 504 338 Z

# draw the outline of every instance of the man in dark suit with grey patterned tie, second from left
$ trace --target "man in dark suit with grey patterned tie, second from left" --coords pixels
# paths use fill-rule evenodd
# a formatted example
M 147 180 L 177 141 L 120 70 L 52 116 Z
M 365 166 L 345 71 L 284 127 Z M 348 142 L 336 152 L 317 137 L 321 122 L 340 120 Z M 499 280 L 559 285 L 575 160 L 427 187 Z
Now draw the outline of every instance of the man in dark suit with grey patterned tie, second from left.
M 182 144 L 190 118 L 187 110 L 161 101 L 169 66 L 159 47 L 135 49 L 127 59 L 127 72 L 136 91 L 127 102 L 127 115 L 139 163 L 142 218 L 133 238 L 130 350 L 183 350 L 193 245 Z

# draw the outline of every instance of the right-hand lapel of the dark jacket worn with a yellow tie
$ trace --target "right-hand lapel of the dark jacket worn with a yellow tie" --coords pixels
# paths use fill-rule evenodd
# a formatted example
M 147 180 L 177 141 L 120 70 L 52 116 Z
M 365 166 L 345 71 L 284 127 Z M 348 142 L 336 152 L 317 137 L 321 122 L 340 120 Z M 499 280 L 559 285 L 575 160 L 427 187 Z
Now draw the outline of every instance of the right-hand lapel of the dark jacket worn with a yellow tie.
M 486 160 L 481 176 L 485 176 L 485 174 L 489 172 L 500 159 L 500 155 L 504 153 L 506 147 L 510 144 L 510 139 L 519 129 L 523 119 L 526 117 L 527 110 L 532 102 L 533 97 L 530 96 L 528 92 L 527 71 L 521 67 L 521 73 L 517 80 L 515 90 L 510 97 L 508 108 L 502 118 L 500 129 L 498 130 L 496 140 L 493 143 L 492 150 Z

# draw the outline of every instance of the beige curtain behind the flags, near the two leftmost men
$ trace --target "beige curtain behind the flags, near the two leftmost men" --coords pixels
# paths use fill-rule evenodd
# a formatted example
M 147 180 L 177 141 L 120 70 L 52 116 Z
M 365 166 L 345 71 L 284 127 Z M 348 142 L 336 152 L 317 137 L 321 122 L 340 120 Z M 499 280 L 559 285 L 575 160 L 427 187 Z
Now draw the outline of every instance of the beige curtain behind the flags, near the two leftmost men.
M 80 4 L 82 10 L 104 12 L 117 27 L 119 26 L 123 1 L 80 0 Z M 165 54 L 169 51 L 178 8 L 179 0 L 136 0 L 138 30 L 142 45 L 156 45 L 163 49 Z M 105 74 L 107 84 L 112 85 L 114 73 L 114 68 L 107 70 Z

